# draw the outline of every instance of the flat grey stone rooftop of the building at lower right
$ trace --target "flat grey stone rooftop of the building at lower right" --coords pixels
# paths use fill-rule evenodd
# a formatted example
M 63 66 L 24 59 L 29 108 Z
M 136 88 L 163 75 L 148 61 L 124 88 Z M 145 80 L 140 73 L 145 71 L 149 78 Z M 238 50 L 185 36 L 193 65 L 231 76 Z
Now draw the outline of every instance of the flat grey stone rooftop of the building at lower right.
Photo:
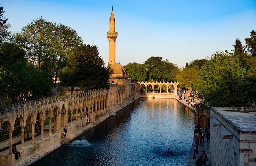
M 214 108 L 217 110 L 216 108 Z M 240 132 L 256 132 L 256 112 L 217 110 L 229 123 Z

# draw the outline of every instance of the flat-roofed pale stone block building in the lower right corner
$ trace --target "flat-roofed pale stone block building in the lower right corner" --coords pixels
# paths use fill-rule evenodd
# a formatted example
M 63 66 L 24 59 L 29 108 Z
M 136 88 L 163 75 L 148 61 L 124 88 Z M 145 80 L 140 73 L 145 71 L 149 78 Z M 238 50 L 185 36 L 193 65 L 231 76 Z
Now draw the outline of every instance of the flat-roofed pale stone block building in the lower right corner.
M 210 165 L 256 166 L 256 108 L 211 108 Z

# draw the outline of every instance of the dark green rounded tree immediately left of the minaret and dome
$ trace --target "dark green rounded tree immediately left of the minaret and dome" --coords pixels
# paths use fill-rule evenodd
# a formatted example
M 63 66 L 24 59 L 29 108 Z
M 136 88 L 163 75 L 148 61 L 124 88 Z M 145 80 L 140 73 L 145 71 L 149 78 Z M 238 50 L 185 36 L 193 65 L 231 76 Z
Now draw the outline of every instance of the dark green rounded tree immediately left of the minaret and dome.
M 81 44 L 68 59 L 68 64 L 60 70 L 60 85 L 70 87 L 71 94 L 75 87 L 90 90 L 108 88 L 109 74 L 99 56 L 96 45 Z

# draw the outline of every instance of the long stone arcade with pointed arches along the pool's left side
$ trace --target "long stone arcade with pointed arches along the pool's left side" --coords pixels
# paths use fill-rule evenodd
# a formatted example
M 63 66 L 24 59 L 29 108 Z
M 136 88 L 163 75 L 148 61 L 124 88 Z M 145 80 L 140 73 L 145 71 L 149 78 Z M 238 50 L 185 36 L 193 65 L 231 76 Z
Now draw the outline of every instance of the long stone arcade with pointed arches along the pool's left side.
M 64 98 L 44 98 L 38 101 L 15 103 L 8 107 L 2 105 L 0 124 L 2 126 L 4 122 L 7 123 L 10 139 L 9 150 L 0 153 L 0 165 L 14 165 L 18 162 L 12 154 L 12 132 L 16 127 L 21 127 L 21 148 L 19 151 L 22 159 L 25 159 L 39 150 L 60 141 L 60 138 L 63 137 L 62 132 L 64 127 L 68 126 L 68 114 L 71 115 L 71 122 L 67 128 L 67 140 L 69 139 L 68 135 L 89 124 L 85 117 L 85 111 L 89 113 L 90 121 L 93 123 L 95 120 L 107 114 L 113 115 L 114 113 L 112 111 L 121 109 L 131 102 L 133 97 L 139 97 L 138 83 L 133 83 L 129 87 L 111 84 L 109 89 L 97 89 L 87 92 L 80 91 Z M 78 109 L 80 109 L 79 114 Z M 74 115 L 73 110 L 76 110 L 76 114 Z M 49 128 L 45 129 L 44 121 L 47 118 L 49 118 Z M 53 128 L 51 123 L 52 118 L 54 119 Z M 73 118 L 76 121 L 75 123 L 73 123 Z M 16 119 L 19 119 L 20 126 L 14 126 Z M 35 141 L 36 122 L 39 125 L 41 133 L 41 136 L 38 136 L 40 137 L 39 141 Z M 29 146 L 24 146 L 25 130 L 26 132 L 32 133 L 32 142 Z M 49 133 L 49 135 L 44 136 L 46 133 Z

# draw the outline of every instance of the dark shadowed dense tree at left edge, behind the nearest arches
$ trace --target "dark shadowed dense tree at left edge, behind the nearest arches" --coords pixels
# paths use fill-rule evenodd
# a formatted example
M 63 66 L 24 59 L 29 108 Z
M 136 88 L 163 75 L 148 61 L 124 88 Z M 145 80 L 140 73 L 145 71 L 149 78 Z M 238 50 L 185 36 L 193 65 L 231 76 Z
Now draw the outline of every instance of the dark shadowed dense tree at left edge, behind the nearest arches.
M 38 99 L 50 91 L 49 75 L 35 69 L 26 61 L 25 52 L 12 43 L 0 45 L 0 95 L 6 99 L 22 101 Z

